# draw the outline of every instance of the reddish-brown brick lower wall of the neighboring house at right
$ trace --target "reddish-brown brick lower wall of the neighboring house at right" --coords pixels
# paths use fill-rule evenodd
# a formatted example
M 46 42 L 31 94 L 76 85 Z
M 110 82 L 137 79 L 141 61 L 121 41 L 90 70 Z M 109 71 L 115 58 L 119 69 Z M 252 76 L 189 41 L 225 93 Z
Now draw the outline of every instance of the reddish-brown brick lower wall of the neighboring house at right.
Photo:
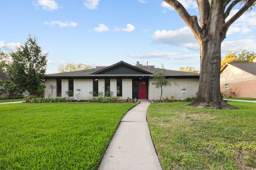
M 256 98 L 256 80 L 248 82 L 238 82 L 238 83 L 229 83 L 229 89 L 232 89 L 232 92 L 235 93 L 232 97 L 241 97 L 241 98 Z M 223 92 L 224 84 L 220 84 L 220 91 Z

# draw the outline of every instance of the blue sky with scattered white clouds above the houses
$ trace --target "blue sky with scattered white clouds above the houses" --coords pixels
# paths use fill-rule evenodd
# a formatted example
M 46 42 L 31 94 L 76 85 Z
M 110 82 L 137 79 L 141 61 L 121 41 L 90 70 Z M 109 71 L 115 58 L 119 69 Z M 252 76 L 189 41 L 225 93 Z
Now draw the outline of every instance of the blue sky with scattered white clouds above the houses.
M 190 15 L 198 15 L 196 0 L 179 2 Z M 15 50 L 29 34 L 36 35 L 49 54 L 46 74 L 67 62 L 95 67 L 140 61 L 170 70 L 200 69 L 198 41 L 162 0 L 5 0 L 0 15 L 2 51 Z M 256 51 L 255 30 L 253 9 L 230 27 L 222 55 L 227 50 Z

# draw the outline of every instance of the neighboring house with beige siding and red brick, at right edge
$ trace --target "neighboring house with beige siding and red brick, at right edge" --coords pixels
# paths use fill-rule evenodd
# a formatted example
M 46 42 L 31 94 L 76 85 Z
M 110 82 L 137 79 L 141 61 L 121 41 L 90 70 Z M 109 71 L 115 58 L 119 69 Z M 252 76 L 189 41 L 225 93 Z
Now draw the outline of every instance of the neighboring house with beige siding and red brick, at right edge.
M 232 97 L 256 98 L 256 59 L 252 63 L 226 63 L 220 70 L 220 91 Z

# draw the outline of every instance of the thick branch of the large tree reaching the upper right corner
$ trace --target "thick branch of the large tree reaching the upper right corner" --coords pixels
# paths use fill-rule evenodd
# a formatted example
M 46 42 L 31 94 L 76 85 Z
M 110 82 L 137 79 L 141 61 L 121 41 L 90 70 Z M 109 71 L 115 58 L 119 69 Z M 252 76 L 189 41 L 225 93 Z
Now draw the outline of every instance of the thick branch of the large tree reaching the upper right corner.
M 238 1 L 238 0 L 235 0 L 234 3 L 236 1 Z M 232 23 L 234 23 L 234 21 L 236 21 L 240 16 L 242 16 L 242 14 L 244 14 L 244 12 L 246 12 L 254 4 L 254 2 L 256 2 L 256 0 L 248 0 L 244 4 L 244 6 L 234 16 L 232 16 L 232 18 L 230 18 L 226 23 L 224 23 L 220 27 L 220 32 L 225 32 L 230 27 L 230 25 Z M 230 6 L 231 6 L 231 4 L 230 4 Z

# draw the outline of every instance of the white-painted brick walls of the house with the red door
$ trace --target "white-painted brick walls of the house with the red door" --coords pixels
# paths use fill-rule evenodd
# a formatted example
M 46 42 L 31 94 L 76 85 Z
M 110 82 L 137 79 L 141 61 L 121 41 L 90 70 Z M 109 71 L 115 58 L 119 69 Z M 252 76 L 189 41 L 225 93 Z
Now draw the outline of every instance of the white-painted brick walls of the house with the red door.
M 196 97 L 196 92 L 198 92 L 199 86 L 199 79 L 198 78 L 184 78 L 184 79 L 175 79 L 178 86 L 173 85 L 170 87 L 164 87 L 163 91 L 163 98 L 168 97 L 171 99 L 171 96 L 174 96 L 174 100 L 180 100 L 180 94 L 182 92 L 182 88 L 186 88 L 186 94 L 182 95 L 183 99 L 188 97 Z M 74 79 L 74 95 L 76 95 L 76 89 L 80 88 L 81 93 L 78 96 L 78 99 L 87 100 L 92 98 L 90 92 L 93 91 L 93 80 L 92 79 Z M 153 79 L 148 80 L 148 99 L 156 100 L 160 99 L 161 91 L 160 88 L 156 88 L 155 85 L 156 81 Z M 50 85 L 55 85 L 56 80 L 54 79 L 46 79 L 45 81 L 45 97 L 47 98 L 48 95 L 51 93 Z M 66 97 L 66 91 L 68 91 L 68 79 L 61 80 L 61 87 L 62 87 L 62 98 Z M 116 79 L 110 79 L 110 91 L 114 92 L 114 96 L 116 96 Z M 99 79 L 98 80 L 98 92 L 105 93 L 105 80 Z M 57 89 L 53 91 L 52 98 L 56 98 Z M 132 78 L 130 79 L 122 79 L 122 97 L 121 98 L 132 98 Z M 70 97 L 70 99 L 74 99 L 74 97 Z

